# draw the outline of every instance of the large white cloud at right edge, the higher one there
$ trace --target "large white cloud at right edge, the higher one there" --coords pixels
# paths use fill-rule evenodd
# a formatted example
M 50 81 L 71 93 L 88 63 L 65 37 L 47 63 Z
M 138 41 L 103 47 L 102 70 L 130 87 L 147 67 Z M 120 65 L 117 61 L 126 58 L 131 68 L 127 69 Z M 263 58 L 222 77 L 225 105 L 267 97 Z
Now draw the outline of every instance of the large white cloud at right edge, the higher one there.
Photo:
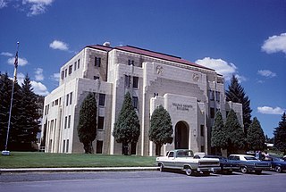
M 267 54 L 277 52 L 286 54 L 286 33 L 266 39 L 263 46 L 261 46 L 261 50 L 265 51 Z

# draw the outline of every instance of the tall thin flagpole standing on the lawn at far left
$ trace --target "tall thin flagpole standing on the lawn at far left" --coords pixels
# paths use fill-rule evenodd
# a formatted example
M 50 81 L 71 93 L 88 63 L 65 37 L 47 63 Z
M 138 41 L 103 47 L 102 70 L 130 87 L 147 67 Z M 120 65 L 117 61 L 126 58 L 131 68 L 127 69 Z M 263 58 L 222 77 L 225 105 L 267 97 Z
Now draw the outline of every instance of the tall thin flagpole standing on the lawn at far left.
M 11 93 L 11 102 L 10 102 L 10 110 L 9 110 L 9 120 L 8 120 L 8 128 L 7 128 L 5 150 L 2 151 L 3 155 L 10 155 L 10 151 L 7 151 L 7 148 L 8 148 L 10 125 L 11 125 L 11 113 L 12 113 L 12 106 L 13 106 L 14 87 L 15 87 L 15 82 L 17 80 L 18 51 L 19 51 L 19 42 L 17 42 L 17 52 L 16 52 L 16 55 L 15 55 L 15 62 L 14 62 L 14 76 L 13 76 L 13 83 L 12 83 L 12 93 Z

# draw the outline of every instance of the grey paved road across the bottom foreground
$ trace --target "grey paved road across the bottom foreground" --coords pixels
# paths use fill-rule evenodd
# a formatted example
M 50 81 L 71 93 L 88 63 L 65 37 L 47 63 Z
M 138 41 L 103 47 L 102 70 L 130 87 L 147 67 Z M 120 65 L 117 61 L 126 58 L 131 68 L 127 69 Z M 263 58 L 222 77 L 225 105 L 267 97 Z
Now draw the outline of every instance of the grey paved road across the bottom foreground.
M 0 191 L 259 191 L 282 192 L 286 173 L 267 171 L 262 175 L 234 173 L 188 177 L 182 173 L 159 171 L 115 171 L 79 173 L 4 173 Z

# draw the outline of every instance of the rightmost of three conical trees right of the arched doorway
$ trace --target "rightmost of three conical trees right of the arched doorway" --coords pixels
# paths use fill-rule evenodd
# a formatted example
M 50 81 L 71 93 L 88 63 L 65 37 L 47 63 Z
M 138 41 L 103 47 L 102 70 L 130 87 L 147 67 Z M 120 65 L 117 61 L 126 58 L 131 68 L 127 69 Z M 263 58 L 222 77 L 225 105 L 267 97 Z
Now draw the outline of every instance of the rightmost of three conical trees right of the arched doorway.
M 248 150 L 258 151 L 265 149 L 265 134 L 257 117 L 253 118 L 247 134 Z

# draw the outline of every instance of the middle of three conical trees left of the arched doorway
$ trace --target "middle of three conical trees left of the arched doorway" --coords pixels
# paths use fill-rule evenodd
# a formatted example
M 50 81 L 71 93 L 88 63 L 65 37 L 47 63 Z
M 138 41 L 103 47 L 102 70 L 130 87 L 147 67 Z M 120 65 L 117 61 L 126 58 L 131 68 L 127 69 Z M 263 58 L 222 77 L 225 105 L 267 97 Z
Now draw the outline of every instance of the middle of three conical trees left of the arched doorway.
M 129 154 L 129 144 L 136 144 L 140 136 L 139 117 L 134 110 L 130 93 L 124 96 L 122 109 L 114 123 L 113 136 L 122 143 L 122 154 Z

